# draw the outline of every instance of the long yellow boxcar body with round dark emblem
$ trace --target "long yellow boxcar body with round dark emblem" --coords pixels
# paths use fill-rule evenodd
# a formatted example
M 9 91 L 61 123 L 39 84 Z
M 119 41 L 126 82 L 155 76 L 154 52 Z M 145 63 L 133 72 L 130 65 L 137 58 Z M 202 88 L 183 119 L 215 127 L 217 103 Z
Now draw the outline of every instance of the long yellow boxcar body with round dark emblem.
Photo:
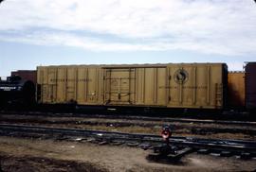
M 43 104 L 223 109 L 225 63 L 61 65 L 37 67 Z

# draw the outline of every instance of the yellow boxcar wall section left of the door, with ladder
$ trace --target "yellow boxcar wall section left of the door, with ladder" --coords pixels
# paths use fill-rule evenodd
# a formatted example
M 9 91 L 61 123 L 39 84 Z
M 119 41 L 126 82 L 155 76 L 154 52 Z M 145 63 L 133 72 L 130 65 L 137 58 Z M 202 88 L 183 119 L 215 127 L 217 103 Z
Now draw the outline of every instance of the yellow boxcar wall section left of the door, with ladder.
M 38 101 L 101 105 L 101 68 L 90 66 L 38 67 Z

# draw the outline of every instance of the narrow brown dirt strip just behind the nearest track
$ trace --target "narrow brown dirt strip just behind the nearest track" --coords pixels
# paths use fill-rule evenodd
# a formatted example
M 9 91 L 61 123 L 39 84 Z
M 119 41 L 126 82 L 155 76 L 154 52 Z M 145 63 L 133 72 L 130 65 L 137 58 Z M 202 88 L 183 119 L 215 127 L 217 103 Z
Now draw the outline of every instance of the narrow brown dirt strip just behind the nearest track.
M 79 120 L 46 120 L 46 119 L 1 119 L 1 123 L 3 124 L 8 123 L 8 124 L 29 124 L 29 125 L 34 125 L 34 126 L 46 126 L 46 125 L 86 125 L 86 126 L 105 126 L 105 127 L 142 127 L 142 128 L 162 128 L 163 124 L 170 125 L 172 130 L 174 132 L 178 132 L 180 129 L 187 129 L 191 130 L 192 133 L 194 134 L 208 134 L 208 133 L 243 133 L 247 135 L 256 135 L 256 128 L 255 129 L 248 129 L 248 128 L 240 128 L 240 129 L 234 129 L 232 126 L 225 127 L 225 128 L 213 128 L 213 127 L 199 127 L 196 126 L 194 127 L 193 125 L 186 125 L 182 126 L 180 124 L 174 124 L 174 123 L 166 123 L 164 122 L 163 124 L 159 123 L 143 123 L 143 122 L 134 122 L 131 120 L 126 120 L 126 121 L 79 121 Z

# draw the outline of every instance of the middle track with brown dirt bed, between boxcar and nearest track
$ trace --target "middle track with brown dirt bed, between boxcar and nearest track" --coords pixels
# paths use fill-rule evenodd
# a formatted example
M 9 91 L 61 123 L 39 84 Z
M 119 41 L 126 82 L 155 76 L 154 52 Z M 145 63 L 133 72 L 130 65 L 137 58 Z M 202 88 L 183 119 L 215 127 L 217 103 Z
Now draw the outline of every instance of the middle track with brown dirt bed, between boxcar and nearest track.
M 65 117 L 64 117 L 65 116 Z M 66 117 L 67 116 L 67 117 Z M 239 122 L 239 121 L 217 121 L 218 125 L 212 120 L 195 120 L 195 119 L 174 119 L 174 118 L 156 118 L 156 117 L 139 117 L 139 116 L 109 116 L 109 115 L 86 115 L 77 117 L 76 114 L 65 113 L 16 113 L 13 115 L 0 113 L 0 124 L 17 124 L 17 125 L 33 125 L 33 126 L 73 126 L 73 128 L 83 128 L 82 126 L 101 126 L 101 127 L 140 127 L 140 128 L 162 128 L 168 125 L 176 134 L 191 133 L 199 135 L 215 134 L 215 133 L 232 133 L 246 134 L 253 138 L 256 135 L 255 122 Z M 168 122 L 169 121 L 169 122 Z M 230 124 L 231 123 L 231 124 Z M 184 125 L 183 125 L 184 124 Z M 214 125 L 212 125 L 214 124 Z M 243 124 L 243 125 L 242 125 Z M 221 126 L 220 126 L 221 125 Z M 90 127 L 89 127 L 90 128 Z

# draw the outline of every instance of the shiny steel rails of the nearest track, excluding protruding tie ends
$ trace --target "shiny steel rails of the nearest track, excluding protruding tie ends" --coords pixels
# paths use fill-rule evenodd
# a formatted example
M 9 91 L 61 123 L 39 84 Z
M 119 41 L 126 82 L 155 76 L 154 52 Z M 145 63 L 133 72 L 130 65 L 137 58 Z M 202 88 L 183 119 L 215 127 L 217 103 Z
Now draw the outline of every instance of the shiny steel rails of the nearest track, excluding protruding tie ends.
M 124 132 L 110 132 L 91 129 L 62 129 L 62 128 L 46 128 L 32 127 L 20 125 L 0 125 L 0 131 L 3 132 L 18 132 L 18 133 L 38 133 L 38 134 L 61 134 L 63 136 L 80 136 L 85 138 L 97 138 L 103 140 L 137 142 L 137 145 L 163 145 L 162 138 L 153 134 L 137 134 Z M 1 134 L 0 132 L 0 134 Z M 255 141 L 242 140 L 219 140 L 219 139 L 201 139 L 193 137 L 172 137 L 170 142 L 175 146 L 190 146 L 193 148 L 214 148 L 238 152 L 256 153 Z

